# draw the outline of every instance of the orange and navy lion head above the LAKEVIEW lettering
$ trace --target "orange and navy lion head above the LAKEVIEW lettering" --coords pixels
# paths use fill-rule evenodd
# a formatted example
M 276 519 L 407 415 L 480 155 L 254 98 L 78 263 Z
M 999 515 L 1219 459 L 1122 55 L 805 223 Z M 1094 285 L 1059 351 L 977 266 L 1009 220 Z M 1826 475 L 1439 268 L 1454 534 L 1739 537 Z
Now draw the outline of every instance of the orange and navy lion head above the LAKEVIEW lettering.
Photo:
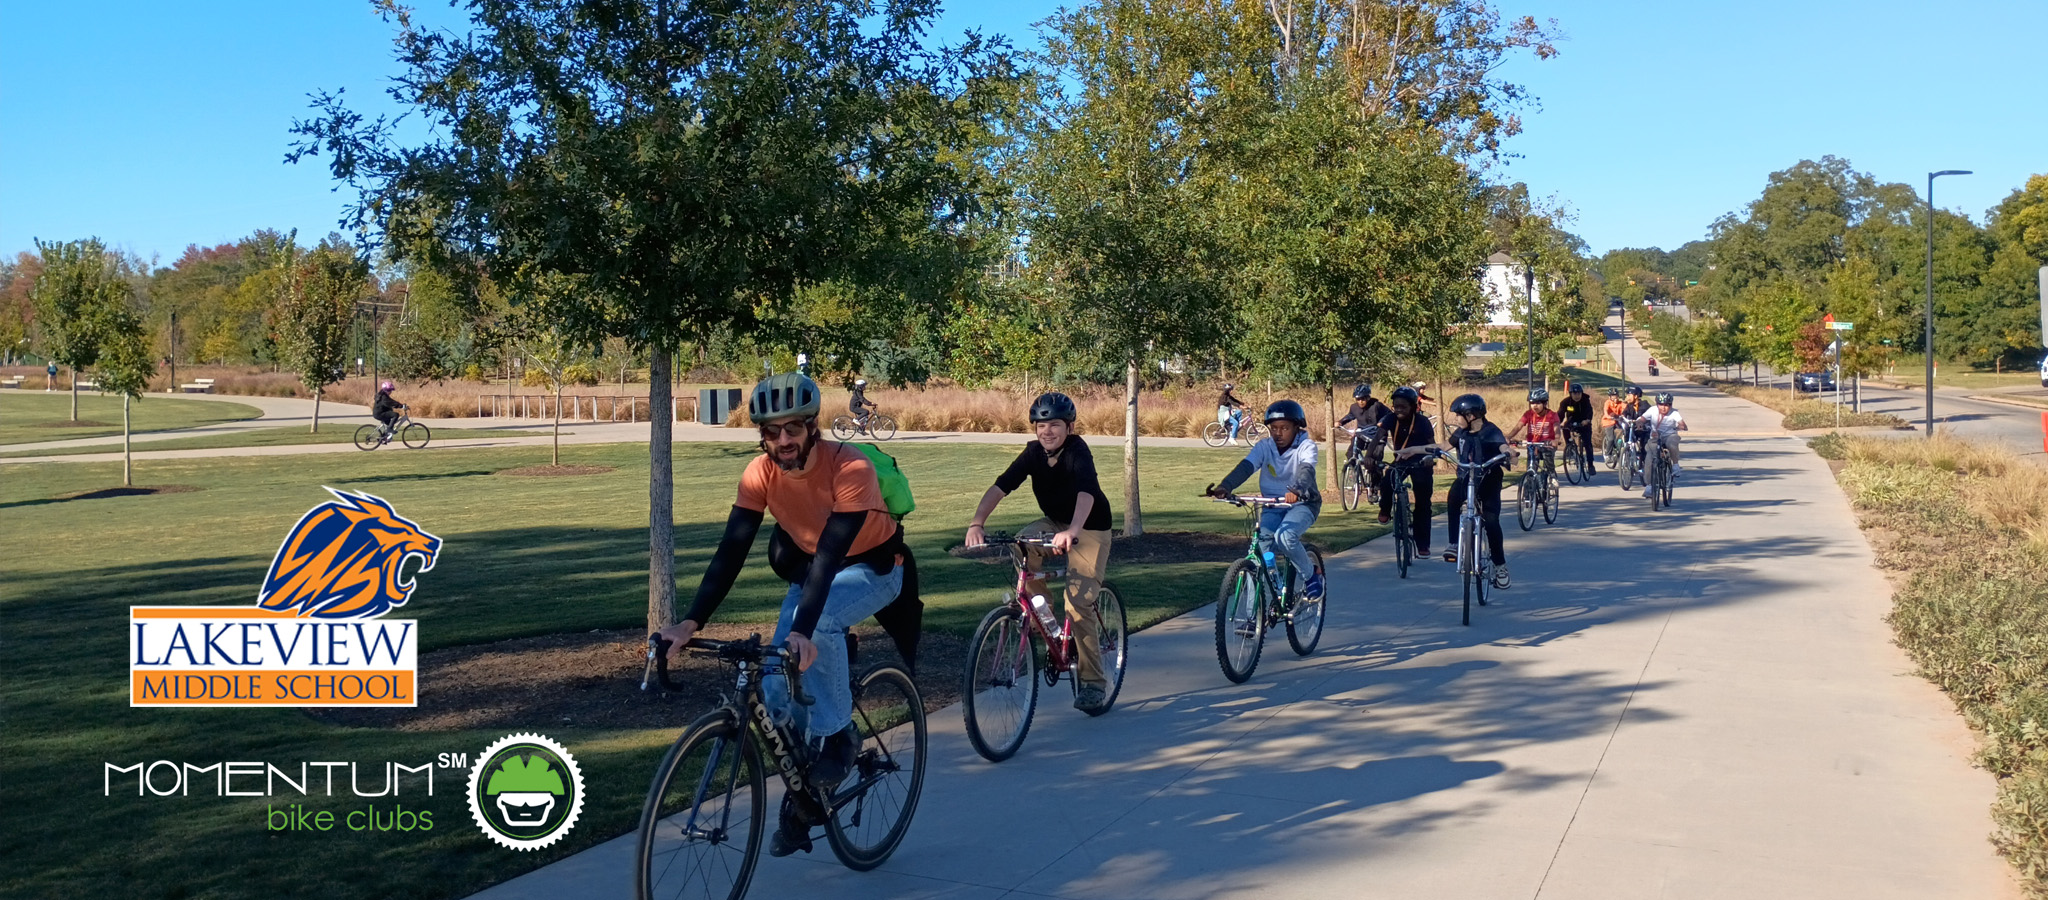
M 440 537 L 371 494 L 328 488 L 334 500 L 291 527 L 270 560 L 256 605 L 317 619 L 373 619 L 406 605 L 414 580 L 399 574 L 418 558 L 434 568 Z

